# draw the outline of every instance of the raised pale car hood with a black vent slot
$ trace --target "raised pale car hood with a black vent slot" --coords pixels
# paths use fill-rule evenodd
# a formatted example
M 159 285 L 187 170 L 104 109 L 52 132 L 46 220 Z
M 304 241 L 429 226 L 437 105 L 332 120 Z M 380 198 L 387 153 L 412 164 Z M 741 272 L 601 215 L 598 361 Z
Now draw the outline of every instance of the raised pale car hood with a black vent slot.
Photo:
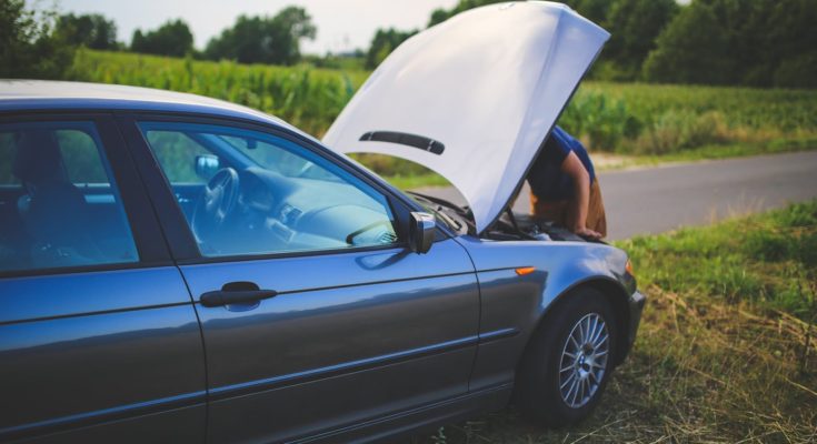
M 609 36 L 560 3 L 460 13 L 398 47 L 323 142 L 439 173 L 468 200 L 481 233 L 521 185 Z

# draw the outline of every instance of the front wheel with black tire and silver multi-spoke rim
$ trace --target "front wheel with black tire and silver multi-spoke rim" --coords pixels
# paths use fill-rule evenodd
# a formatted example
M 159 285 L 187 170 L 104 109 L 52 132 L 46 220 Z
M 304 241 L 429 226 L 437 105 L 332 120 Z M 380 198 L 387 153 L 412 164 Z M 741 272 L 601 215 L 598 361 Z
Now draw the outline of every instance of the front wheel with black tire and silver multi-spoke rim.
M 577 289 L 558 304 L 534 332 L 515 391 L 522 414 L 549 427 L 592 412 L 612 374 L 618 340 L 612 306 L 600 292 Z

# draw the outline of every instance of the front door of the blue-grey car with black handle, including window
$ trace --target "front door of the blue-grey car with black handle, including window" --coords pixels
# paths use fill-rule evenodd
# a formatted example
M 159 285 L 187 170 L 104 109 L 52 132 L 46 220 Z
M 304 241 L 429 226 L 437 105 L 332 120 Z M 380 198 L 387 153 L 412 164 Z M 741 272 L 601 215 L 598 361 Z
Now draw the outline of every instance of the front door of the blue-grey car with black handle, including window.
M 458 243 L 410 252 L 406 204 L 311 142 L 176 120 L 122 121 L 153 157 L 146 181 L 170 185 L 155 200 L 209 180 L 191 209 L 159 205 L 188 230 L 171 248 L 201 320 L 212 442 L 303 437 L 467 393 L 479 293 Z

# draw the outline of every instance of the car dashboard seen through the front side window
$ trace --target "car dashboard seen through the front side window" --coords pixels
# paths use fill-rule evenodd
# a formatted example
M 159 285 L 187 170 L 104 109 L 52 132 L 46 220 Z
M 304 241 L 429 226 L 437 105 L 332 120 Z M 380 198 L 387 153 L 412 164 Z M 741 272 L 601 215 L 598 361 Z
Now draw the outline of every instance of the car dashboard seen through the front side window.
M 239 172 L 236 208 L 202 251 L 216 255 L 331 250 L 397 242 L 386 202 L 340 180 Z M 213 251 L 215 250 L 215 251 Z

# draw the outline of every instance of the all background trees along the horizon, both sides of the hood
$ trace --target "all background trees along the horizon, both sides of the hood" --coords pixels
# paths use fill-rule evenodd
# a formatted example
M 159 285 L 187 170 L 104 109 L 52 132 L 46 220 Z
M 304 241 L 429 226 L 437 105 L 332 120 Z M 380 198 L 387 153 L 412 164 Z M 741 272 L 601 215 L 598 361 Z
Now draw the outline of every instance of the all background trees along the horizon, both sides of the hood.
M 435 10 L 428 27 L 500 0 L 460 0 Z M 611 33 L 590 78 L 612 81 L 817 88 L 817 0 L 564 0 Z M 379 29 L 359 51 L 377 67 L 418 30 Z M 181 19 L 136 30 L 130 44 L 100 14 L 57 14 L 0 0 L 0 77 L 58 78 L 72 49 L 133 51 L 241 63 L 293 64 L 300 42 L 313 39 L 309 13 L 287 7 L 275 16 L 240 16 L 202 50 Z M 321 59 L 310 60 L 321 63 Z

